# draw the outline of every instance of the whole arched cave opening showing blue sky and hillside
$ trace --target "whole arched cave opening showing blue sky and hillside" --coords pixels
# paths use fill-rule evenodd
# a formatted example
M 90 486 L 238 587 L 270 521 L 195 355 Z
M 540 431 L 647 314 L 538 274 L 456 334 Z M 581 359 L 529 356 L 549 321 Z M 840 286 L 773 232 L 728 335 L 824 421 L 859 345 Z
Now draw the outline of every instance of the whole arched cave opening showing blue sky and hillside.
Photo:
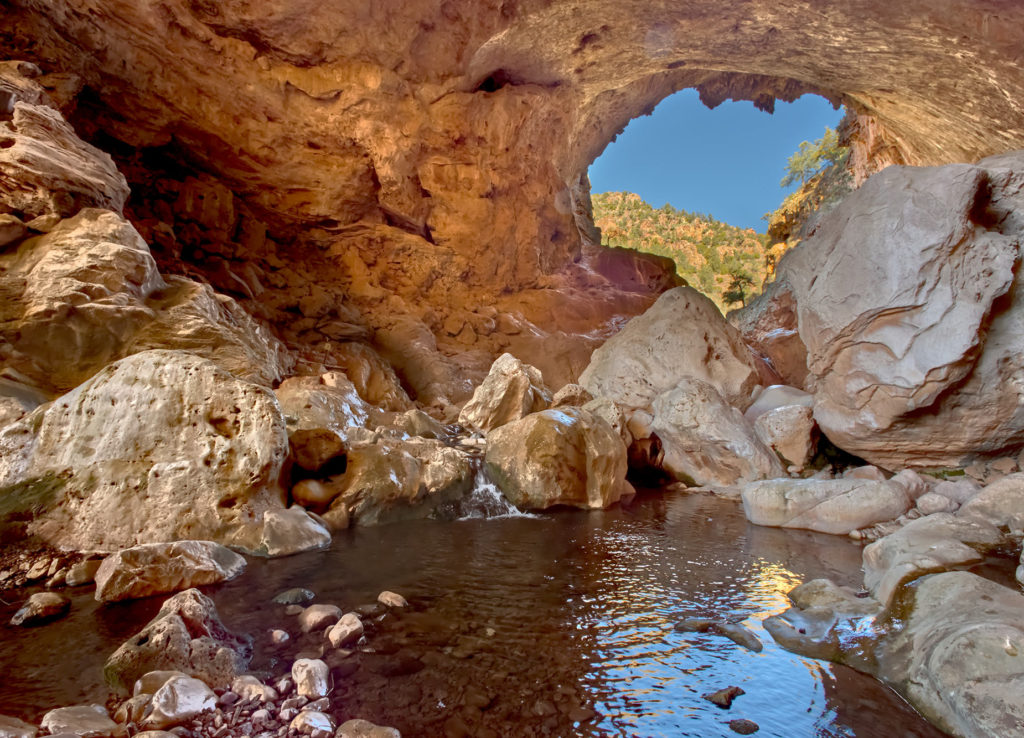
M 849 191 L 842 117 L 810 94 L 773 114 L 710 110 L 694 89 L 667 97 L 590 167 L 602 243 L 671 259 L 723 312 L 746 304 L 804 224 Z

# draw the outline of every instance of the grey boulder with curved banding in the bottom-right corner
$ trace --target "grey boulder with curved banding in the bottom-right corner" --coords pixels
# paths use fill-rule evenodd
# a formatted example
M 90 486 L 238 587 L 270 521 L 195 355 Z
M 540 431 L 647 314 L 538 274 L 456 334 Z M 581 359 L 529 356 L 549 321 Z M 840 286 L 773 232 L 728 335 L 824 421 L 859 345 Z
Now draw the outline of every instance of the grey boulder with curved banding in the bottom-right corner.
M 1024 735 L 1024 596 L 967 571 L 903 592 L 879 678 L 951 735 Z

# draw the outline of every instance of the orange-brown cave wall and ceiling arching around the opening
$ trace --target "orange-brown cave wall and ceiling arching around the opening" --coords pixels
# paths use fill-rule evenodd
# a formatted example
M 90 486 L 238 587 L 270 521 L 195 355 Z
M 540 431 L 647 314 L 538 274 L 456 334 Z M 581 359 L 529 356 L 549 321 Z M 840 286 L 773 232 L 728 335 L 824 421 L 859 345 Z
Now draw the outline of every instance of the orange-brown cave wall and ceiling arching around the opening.
M 846 103 L 861 169 L 1024 146 L 1024 8 L 980 0 L 6 10 L 12 55 L 84 82 L 73 123 L 125 169 L 163 272 L 203 274 L 311 356 L 372 340 L 441 404 L 504 351 L 556 389 L 673 284 L 640 257 L 602 270 L 577 216 L 586 167 L 678 89 Z

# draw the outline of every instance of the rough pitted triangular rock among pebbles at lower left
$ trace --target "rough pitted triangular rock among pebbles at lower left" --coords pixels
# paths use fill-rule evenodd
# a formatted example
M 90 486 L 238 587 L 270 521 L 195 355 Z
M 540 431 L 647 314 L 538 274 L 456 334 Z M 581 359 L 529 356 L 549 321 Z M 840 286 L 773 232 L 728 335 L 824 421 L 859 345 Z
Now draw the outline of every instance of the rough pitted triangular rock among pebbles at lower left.
M 170 669 L 227 687 L 251 655 L 249 639 L 224 627 L 213 601 L 186 590 L 168 599 L 145 627 L 114 652 L 103 675 L 122 693 L 148 671 Z

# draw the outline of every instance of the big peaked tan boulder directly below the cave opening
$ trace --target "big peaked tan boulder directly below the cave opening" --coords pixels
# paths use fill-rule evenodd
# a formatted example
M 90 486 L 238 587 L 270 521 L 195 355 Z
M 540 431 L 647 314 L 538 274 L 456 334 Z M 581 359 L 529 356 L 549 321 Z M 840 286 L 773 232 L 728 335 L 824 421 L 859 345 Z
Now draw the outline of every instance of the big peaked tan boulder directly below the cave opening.
M 683 378 L 711 384 L 740 409 L 758 385 L 755 359 L 739 332 L 689 287 L 662 295 L 594 351 L 580 384 L 625 408 L 649 408 Z

